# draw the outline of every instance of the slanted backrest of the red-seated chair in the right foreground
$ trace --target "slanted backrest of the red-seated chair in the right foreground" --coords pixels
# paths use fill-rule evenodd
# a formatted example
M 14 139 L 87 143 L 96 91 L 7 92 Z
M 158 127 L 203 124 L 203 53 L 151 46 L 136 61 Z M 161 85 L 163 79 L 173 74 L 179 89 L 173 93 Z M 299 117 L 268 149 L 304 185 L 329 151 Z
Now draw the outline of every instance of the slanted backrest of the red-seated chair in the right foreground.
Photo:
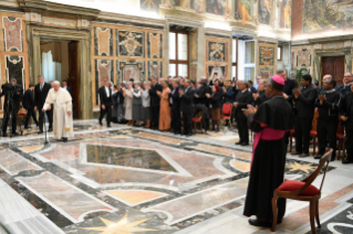
M 325 170 L 324 170 L 324 174 L 322 177 L 321 185 L 320 185 L 320 192 L 321 192 L 323 182 L 324 182 L 325 177 L 326 177 L 326 171 L 328 171 L 328 168 L 329 168 L 329 163 L 330 163 L 330 160 L 331 160 L 332 152 L 333 152 L 332 149 L 328 149 L 326 150 L 326 152 L 321 157 L 318 168 L 308 178 L 305 178 L 303 180 L 303 182 L 305 182 L 304 185 L 302 185 L 300 189 L 293 191 L 293 193 L 295 195 L 300 195 L 303 191 L 305 191 L 305 189 L 308 189 L 308 187 L 316 179 L 316 177 L 319 176 L 321 169 L 326 164 L 325 166 Z

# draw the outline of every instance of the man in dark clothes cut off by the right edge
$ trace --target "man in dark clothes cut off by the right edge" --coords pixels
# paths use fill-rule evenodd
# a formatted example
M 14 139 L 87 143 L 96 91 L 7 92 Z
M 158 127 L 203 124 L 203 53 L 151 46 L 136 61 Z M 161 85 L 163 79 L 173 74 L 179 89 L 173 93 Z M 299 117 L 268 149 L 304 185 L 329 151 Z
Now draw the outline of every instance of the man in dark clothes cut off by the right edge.
M 340 115 L 342 123 L 345 124 L 346 136 L 346 158 L 342 161 L 342 163 L 353 163 L 353 85 L 351 85 L 350 93 L 347 93 L 342 99 Z

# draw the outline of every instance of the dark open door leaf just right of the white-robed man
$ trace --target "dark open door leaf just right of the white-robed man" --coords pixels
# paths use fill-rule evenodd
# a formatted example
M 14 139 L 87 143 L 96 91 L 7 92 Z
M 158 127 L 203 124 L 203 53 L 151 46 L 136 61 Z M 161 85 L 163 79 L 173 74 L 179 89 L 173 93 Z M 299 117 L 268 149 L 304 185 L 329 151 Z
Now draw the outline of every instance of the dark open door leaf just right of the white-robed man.
M 72 89 L 73 118 L 80 118 L 79 42 L 69 43 L 69 86 Z

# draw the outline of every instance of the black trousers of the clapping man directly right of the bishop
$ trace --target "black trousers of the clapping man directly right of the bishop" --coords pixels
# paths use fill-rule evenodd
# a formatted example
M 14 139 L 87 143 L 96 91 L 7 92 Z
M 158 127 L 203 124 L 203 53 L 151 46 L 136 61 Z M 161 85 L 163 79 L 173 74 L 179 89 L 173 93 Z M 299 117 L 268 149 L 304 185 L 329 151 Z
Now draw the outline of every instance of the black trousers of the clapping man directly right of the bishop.
M 310 131 L 312 129 L 312 118 L 295 119 L 295 151 L 309 153 Z

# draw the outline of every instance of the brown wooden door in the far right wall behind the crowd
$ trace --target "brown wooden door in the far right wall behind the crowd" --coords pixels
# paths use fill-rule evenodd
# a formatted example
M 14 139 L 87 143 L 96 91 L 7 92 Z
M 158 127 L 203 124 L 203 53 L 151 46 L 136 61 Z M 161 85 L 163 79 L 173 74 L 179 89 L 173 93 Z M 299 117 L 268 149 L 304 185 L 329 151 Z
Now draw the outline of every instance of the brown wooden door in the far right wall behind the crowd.
M 330 74 L 336 81 L 338 86 L 343 84 L 344 56 L 322 57 L 321 64 L 321 79 L 324 75 Z

